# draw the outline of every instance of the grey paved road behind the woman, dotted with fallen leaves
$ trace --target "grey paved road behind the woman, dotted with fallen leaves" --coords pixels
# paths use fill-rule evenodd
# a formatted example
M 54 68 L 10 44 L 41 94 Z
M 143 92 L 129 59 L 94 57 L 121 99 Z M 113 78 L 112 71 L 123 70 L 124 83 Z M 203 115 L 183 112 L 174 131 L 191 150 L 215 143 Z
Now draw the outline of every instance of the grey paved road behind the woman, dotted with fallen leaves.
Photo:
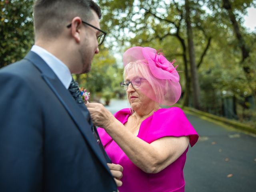
M 116 112 L 128 102 L 112 100 Z M 189 148 L 184 177 L 186 192 L 255 192 L 256 137 L 186 114 L 200 135 Z

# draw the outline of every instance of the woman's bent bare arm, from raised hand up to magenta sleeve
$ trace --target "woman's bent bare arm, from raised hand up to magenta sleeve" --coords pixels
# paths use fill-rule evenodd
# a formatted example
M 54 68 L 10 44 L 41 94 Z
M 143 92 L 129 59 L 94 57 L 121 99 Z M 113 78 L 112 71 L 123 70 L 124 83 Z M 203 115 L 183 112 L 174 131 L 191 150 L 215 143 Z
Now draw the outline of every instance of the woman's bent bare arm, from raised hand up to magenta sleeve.
M 163 137 L 148 144 L 135 136 L 102 104 L 87 103 L 92 121 L 102 127 L 128 158 L 147 173 L 157 173 L 174 162 L 188 147 L 188 137 Z

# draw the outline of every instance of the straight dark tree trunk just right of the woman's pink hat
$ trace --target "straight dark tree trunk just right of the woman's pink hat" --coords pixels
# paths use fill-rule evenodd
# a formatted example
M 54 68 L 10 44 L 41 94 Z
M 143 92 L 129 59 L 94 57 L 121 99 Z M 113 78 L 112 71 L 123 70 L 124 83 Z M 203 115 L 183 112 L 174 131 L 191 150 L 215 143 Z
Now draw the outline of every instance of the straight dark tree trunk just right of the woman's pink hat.
M 187 24 L 187 36 L 188 36 L 188 53 L 189 53 L 190 72 L 191 72 L 191 80 L 192 80 L 192 87 L 193 87 L 193 105 L 194 105 L 194 108 L 200 109 L 200 104 L 199 104 L 200 87 L 198 83 L 193 34 L 192 34 L 192 27 L 190 22 L 189 0 L 185 0 L 185 9 L 186 9 L 186 24 Z

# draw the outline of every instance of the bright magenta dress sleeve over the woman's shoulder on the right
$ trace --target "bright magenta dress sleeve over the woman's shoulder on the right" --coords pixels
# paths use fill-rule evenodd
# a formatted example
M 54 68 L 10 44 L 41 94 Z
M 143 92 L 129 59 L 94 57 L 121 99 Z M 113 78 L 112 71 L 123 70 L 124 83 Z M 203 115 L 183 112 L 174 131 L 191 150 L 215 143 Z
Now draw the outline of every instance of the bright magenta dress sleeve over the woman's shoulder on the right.
M 161 108 L 140 125 L 138 137 L 148 143 L 166 136 L 189 136 L 190 146 L 198 140 L 196 130 L 178 107 Z

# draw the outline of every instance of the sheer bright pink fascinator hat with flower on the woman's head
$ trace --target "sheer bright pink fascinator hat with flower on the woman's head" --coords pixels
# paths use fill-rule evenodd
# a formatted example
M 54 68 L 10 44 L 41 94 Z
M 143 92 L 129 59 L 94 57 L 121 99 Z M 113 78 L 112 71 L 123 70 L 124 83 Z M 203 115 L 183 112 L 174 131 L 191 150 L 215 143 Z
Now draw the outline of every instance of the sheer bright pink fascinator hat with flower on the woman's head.
M 180 76 L 176 71 L 177 66 L 173 66 L 174 61 L 169 62 L 162 53 L 158 54 L 155 49 L 150 47 L 132 47 L 123 54 L 124 67 L 130 62 L 138 60 L 148 66 L 150 75 L 155 79 L 152 83 L 156 84 L 155 87 L 160 88 L 160 90 L 164 90 L 164 99 L 158 100 L 155 96 L 148 95 L 148 91 L 145 91 L 144 94 L 163 105 L 175 104 L 180 98 L 181 87 Z M 157 94 L 156 90 L 154 92 Z

